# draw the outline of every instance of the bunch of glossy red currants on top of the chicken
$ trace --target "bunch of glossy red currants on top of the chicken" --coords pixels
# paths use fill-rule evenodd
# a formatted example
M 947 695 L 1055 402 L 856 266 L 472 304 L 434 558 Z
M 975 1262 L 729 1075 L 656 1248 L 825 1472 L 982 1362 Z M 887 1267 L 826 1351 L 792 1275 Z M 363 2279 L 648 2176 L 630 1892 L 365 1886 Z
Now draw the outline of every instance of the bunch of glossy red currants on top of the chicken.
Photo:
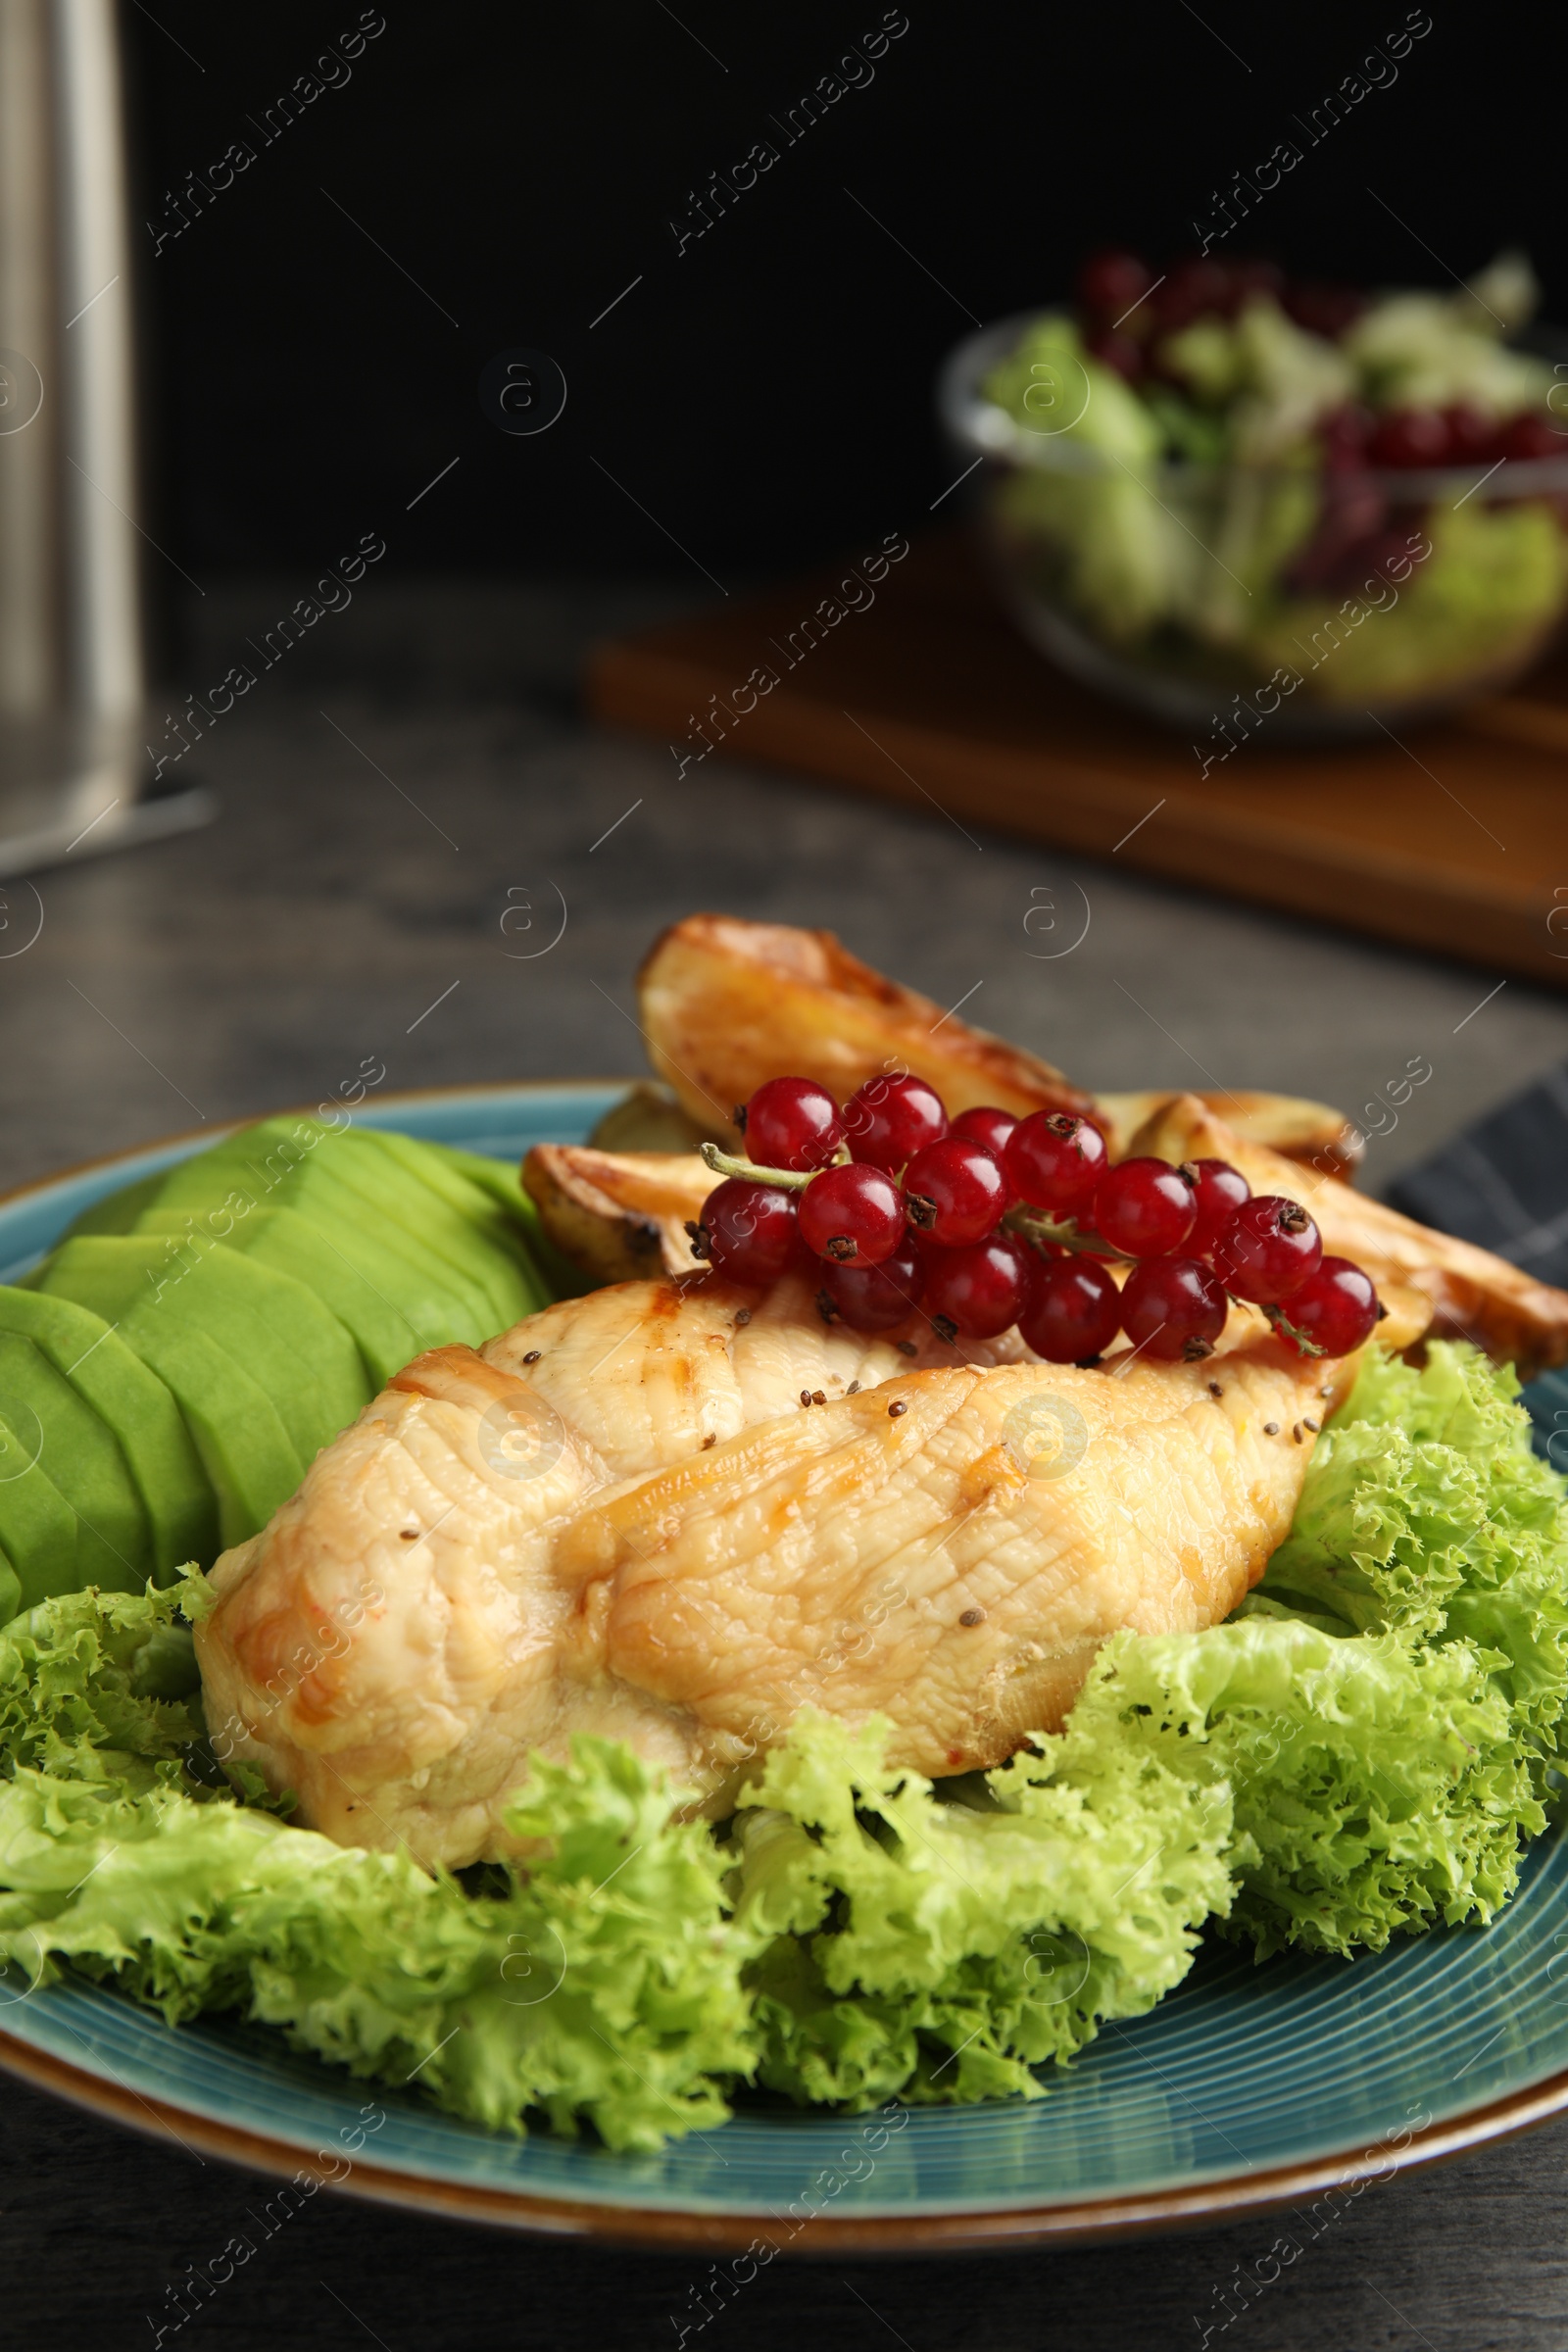
M 853 1331 L 917 1310 L 940 1338 L 1018 1324 L 1048 1364 L 1086 1364 L 1126 1334 L 1194 1362 L 1229 1301 L 1251 1301 L 1305 1355 L 1349 1355 L 1382 1308 L 1349 1258 L 1326 1258 L 1300 1202 L 1253 1192 L 1225 1160 L 1119 1160 L 1093 1120 L 964 1110 L 922 1077 L 872 1077 L 844 1108 L 809 1077 L 771 1077 L 736 1112 L 748 1157 L 708 1148 L 724 1181 L 693 1251 L 733 1282 L 818 1277 Z M 1119 1284 L 1112 1261 L 1131 1261 Z

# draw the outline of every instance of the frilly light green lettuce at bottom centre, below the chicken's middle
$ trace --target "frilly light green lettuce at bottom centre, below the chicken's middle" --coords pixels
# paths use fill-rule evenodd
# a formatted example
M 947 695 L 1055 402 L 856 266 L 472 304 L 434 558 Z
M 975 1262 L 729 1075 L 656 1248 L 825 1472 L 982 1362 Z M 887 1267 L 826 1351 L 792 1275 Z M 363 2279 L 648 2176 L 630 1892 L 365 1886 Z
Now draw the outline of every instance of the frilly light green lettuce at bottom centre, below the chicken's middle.
M 804 1717 L 743 1799 L 759 2079 L 846 2107 L 1041 2098 L 1030 2067 L 1152 2009 L 1227 1907 L 1227 1790 L 1070 1729 L 945 1802 L 884 1731 Z

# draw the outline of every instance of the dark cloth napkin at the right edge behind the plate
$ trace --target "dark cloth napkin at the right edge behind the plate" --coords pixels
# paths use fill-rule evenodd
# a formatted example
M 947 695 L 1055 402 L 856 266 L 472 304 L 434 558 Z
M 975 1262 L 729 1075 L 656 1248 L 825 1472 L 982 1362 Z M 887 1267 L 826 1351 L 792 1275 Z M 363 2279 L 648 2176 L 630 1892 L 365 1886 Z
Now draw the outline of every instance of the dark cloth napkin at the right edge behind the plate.
M 1568 1289 L 1568 1063 L 1406 1169 L 1389 1202 Z

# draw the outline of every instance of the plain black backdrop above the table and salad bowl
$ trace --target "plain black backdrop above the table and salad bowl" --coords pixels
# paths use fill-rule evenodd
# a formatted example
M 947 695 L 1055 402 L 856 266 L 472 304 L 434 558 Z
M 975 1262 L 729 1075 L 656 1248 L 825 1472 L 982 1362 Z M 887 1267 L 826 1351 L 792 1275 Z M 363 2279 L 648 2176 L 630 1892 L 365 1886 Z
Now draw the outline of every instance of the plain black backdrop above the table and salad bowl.
M 127 7 L 153 510 L 202 583 L 310 572 L 374 529 L 397 574 L 701 588 L 912 529 L 954 470 L 929 388 L 971 320 L 1060 292 L 1100 240 L 1192 245 L 1213 191 L 1286 139 L 1300 167 L 1227 254 L 1448 285 L 1528 230 L 1547 315 L 1568 308 L 1561 101 L 1521 12 L 1509 31 L 1439 5 L 1316 146 L 1312 108 L 1425 12 L 907 0 L 795 143 L 790 108 L 877 35 L 877 0 L 388 0 L 378 21 L 343 59 L 353 0 Z M 197 188 L 200 212 L 186 193 L 179 230 L 188 174 L 233 141 L 254 162 Z M 778 162 L 696 235 L 693 200 L 755 141 Z M 515 346 L 569 386 L 534 437 L 480 412 L 484 362 Z

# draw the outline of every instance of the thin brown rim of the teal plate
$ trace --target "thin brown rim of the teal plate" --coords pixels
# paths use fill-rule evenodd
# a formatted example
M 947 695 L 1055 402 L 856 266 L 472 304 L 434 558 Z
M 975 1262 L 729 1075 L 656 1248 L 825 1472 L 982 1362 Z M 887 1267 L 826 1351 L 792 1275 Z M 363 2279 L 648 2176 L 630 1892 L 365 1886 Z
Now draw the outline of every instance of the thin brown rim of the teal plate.
M 461 1096 L 538 1096 L 538 1094 L 604 1094 L 614 1087 L 637 1084 L 630 1077 L 531 1077 L 468 1082 L 454 1087 L 400 1087 L 378 1096 L 376 1110 L 395 1110 L 400 1103 L 456 1101 Z M 284 1103 L 277 1110 L 240 1115 L 226 1122 L 181 1129 L 155 1136 L 146 1143 L 122 1145 L 115 1152 L 80 1160 L 54 1169 L 47 1176 L 12 1185 L 0 1192 L 0 1211 L 24 1204 L 56 1185 L 101 1169 L 120 1167 L 146 1152 L 162 1152 L 179 1143 L 216 1141 L 235 1127 L 249 1127 L 256 1117 L 308 1117 L 313 1103 Z M 134 2004 L 132 2004 L 134 2006 Z M 270 2178 L 306 2176 L 317 2187 L 336 2190 L 362 2204 L 430 2213 L 442 2220 L 465 2220 L 475 2225 L 517 2230 L 529 2237 L 592 2239 L 602 2244 L 635 2246 L 642 2251 L 675 2253 L 745 2253 L 766 2237 L 764 2211 L 701 2211 L 670 2204 L 611 2204 L 599 2199 L 552 2197 L 522 2187 L 496 2187 L 444 2178 L 418 2166 L 364 2164 L 355 2159 L 346 2176 L 327 2173 L 308 2152 L 275 2133 L 249 2124 L 228 2124 L 181 2107 L 176 2100 L 148 2098 L 132 2091 L 113 2074 L 94 2072 L 78 2060 L 0 2027 L 0 2072 L 47 2091 L 73 2107 L 120 2124 L 146 2138 L 174 2143 L 190 2152 L 200 2147 L 228 2164 Z M 816 2213 L 802 2234 L 809 2244 L 795 2246 L 785 2239 L 776 2253 L 797 2260 L 813 2256 L 891 2256 L 891 2253 L 999 2253 L 1027 2246 L 1072 2246 L 1145 2237 L 1185 2230 L 1201 2223 L 1225 2223 L 1244 2213 L 1272 2213 L 1302 2197 L 1324 2192 L 1349 2194 L 1359 2183 L 1396 2173 L 1425 2171 L 1481 2147 L 1490 2140 L 1516 2138 L 1535 2131 L 1568 2107 L 1568 2067 L 1547 2074 L 1535 2084 L 1507 2091 L 1500 2098 L 1465 2107 L 1443 2122 L 1415 2131 L 1403 2147 L 1328 2150 L 1298 2164 L 1269 2166 L 1267 2171 L 1237 2171 L 1208 2176 L 1201 2183 L 1171 2183 L 1159 2190 L 1135 2190 L 1114 2197 L 1063 2197 L 1051 2204 L 1009 2206 L 961 2206 L 947 2211 L 914 2213 Z M 1368 2161 L 1378 2157 L 1378 2164 Z M 336 2161 L 336 2159 L 334 2159 Z

